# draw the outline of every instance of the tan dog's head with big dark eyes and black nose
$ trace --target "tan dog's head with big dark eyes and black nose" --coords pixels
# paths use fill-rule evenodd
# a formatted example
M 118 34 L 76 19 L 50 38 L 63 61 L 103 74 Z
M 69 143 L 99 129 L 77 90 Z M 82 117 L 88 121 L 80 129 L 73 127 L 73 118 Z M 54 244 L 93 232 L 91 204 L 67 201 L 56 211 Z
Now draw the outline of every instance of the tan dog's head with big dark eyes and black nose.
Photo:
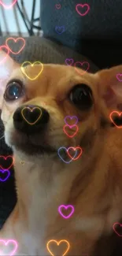
M 110 126 L 109 109 L 116 108 L 115 91 L 120 90 L 116 73 L 122 66 L 96 74 L 65 65 L 28 65 L 22 70 L 8 57 L 0 69 L 2 121 L 6 143 L 13 150 L 26 154 L 54 154 L 60 147 L 76 146 L 91 150 L 95 136 Z M 75 118 L 66 119 L 68 135 L 63 129 L 68 116 L 78 119 L 74 137 Z

